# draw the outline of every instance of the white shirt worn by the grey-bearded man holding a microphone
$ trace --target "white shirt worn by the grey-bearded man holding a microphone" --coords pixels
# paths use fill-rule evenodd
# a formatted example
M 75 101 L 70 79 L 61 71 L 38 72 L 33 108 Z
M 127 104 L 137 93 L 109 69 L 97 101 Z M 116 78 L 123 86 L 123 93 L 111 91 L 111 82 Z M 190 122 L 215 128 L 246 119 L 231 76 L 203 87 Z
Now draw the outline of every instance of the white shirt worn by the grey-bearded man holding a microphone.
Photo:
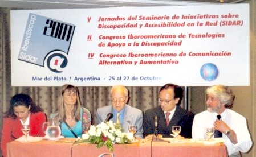
M 208 110 L 196 114 L 193 121 L 192 138 L 205 138 L 205 127 L 213 127 L 213 123 L 217 119 L 216 116 L 216 113 L 210 113 Z M 221 114 L 221 120 L 224 121 L 230 129 L 234 130 L 237 135 L 238 143 L 233 144 L 227 135 L 222 133 L 222 138 L 225 141 L 224 144 L 227 146 L 229 155 L 238 151 L 249 151 L 253 142 L 251 141 L 251 135 L 248 131 L 246 118 L 233 110 L 225 109 Z

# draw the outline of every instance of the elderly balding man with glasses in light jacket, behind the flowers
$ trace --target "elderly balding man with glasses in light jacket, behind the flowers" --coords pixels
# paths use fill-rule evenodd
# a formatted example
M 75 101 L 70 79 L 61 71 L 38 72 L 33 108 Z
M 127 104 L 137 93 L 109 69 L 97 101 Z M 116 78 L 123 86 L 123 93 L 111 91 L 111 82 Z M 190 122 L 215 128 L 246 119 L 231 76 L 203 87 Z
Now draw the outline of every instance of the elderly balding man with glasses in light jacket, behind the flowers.
M 136 126 L 136 138 L 143 138 L 143 113 L 141 110 L 127 105 L 129 96 L 128 89 L 122 85 L 116 85 L 110 92 L 112 105 L 97 109 L 96 123 L 99 124 L 107 119 L 109 113 L 113 114 L 111 120 L 120 123 L 125 132 L 128 132 L 129 126 Z

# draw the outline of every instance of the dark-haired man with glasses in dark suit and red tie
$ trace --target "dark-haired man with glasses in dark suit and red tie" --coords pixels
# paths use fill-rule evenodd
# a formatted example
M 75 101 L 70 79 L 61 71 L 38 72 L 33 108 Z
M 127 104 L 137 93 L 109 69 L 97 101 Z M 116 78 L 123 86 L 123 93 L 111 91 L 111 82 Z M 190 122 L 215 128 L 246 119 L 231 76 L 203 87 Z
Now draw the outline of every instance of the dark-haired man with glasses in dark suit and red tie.
M 172 137 L 172 126 L 181 126 L 180 135 L 192 138 L 194 114 L 180 107 L 183 89 L 174 84 L 166 84 L 159 91 L 159 106 L 145 111 L 143 130 L 144 135 L 162 134 L 162 137 Z M 155 117 L 157 116 L 157 129 Z M 167 118 L 167 119 L 166 119 Z

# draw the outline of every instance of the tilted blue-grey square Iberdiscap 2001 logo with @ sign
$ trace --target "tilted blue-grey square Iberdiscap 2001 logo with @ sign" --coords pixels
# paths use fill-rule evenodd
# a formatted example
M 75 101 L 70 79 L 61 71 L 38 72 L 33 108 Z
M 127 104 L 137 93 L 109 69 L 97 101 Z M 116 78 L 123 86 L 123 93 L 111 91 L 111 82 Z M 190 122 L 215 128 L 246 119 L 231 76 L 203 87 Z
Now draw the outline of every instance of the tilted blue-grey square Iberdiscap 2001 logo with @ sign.
M 74 24 L 30 13 L 18 59 L 63 72 L 74 30 Z

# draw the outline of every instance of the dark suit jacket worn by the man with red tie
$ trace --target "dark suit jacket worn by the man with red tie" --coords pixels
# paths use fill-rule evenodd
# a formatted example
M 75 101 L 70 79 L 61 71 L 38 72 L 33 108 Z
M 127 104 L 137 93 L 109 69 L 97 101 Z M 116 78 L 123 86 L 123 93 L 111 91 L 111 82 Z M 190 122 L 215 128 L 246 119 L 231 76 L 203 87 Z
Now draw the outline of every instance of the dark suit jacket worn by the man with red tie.
M 190 111 L 182 109 L 178 105 L 172 119 L 170 119 L 168 127 L 165 125 L 165 114 L 164 111 L 162 111 L 161 106 L 157 106 L 156 108 L 145 111 L 143 120 L 143 130 L 145 136 L 155 133 L 155 116 L 158 117 L 158 133 L 162 134 L 163 137 L 170 137 L 173 125 L 180 125 L 180 135 L 185 138 L 192 138 L 194 114 Z

